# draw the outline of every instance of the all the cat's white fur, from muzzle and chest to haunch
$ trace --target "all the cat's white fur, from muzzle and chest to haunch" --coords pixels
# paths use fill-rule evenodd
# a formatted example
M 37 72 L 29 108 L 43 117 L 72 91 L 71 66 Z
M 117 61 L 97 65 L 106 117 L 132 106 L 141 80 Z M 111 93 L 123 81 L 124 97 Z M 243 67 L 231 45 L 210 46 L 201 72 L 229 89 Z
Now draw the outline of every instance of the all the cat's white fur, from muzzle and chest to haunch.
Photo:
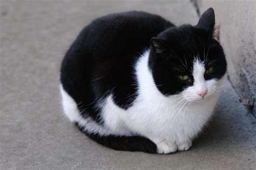
M 121 109 L 109 95 L 100 105 L 104 126 L 79 116 L 75 101 L 60 87 L 64 113 L 71 121 L 85 126 L 85 130 L 101 135 L 119 134 L 130 136 L 139 134 L 151 139 L 158 153 L 171 153 L 188 150 L 192 139 L 197 136 L 211 117 L 218 98 L 218 90 L 226 80 L 204 80 L 203 62 L 194 62 L 194 86 L 188 87 L 179 95 L 164 96 L 154 84 L 147 67 L 149 51 L 145 52 L 136 64 L 138 97 L 132 107 Z M 204 98 L 197 90 L 208 90 Z

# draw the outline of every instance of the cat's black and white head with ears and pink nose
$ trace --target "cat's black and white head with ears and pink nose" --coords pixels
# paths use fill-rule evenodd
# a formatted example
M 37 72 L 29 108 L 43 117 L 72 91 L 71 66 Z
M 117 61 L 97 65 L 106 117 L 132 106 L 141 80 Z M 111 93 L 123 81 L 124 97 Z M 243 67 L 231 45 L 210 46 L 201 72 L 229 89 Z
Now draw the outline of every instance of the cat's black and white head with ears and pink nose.
M 223 48 L 213 38 L 214 24 L 210 8 L 196 26 L 171 27 L 152 38 L 149 67 L 162 94 L 194 101 L 219 92 L 227 64 Z

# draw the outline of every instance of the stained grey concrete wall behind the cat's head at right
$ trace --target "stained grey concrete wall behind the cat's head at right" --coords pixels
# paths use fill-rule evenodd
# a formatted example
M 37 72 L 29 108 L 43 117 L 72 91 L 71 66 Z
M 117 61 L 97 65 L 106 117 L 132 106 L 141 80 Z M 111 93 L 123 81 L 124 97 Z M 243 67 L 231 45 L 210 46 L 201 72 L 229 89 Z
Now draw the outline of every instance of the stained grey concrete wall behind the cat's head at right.
M 256 96 L 256 1 L 196 0 L 196 4 L 200 14 L 210 7 L 214 9 L 231 83 L 252 104 Z

